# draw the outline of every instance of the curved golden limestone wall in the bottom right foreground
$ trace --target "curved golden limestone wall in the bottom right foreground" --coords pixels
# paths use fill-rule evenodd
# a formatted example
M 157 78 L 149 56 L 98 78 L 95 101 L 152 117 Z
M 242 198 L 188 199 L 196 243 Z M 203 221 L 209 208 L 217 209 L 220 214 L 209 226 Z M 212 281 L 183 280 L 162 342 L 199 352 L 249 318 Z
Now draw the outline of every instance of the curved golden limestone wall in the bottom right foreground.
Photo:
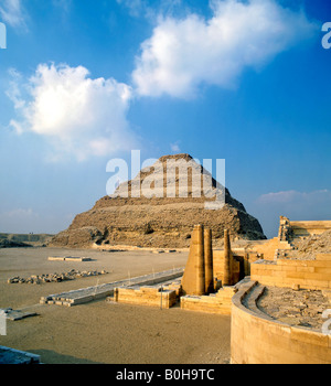
M 250 286 L 252 282 L 250 282 Z M 330 364 L 331 335 L 292 328 L 245 308 L 249 283 L 232 300 L 233 364 Z

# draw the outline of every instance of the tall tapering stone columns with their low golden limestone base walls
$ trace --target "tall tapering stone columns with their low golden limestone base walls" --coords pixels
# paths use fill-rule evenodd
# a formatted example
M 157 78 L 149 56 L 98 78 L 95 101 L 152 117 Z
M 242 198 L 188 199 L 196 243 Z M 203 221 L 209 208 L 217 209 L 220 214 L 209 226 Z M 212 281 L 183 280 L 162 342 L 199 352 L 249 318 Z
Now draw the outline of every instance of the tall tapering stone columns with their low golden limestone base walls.
M 118 287 L 109 301 L 231 314 L 231 299 L 236 292 L 238 265 L 231 250 L 229 233 L 224 232 L 224 253 L 214 254 L 212 232 L 195 225 L 188 262 L 182 278 L 157 286 Z M 220 269 L 222 267 L 222 269 Z

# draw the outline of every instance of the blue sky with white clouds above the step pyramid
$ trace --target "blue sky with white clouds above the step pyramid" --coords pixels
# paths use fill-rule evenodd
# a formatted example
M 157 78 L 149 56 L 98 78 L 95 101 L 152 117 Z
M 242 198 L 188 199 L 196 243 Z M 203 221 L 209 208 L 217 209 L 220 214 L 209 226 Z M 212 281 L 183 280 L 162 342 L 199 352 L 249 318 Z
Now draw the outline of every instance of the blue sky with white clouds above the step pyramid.
M 226 160 L 274 237 L 331 218 L 322 0 L 0 0 L 0 232 L 57 233 L 113 158 Z

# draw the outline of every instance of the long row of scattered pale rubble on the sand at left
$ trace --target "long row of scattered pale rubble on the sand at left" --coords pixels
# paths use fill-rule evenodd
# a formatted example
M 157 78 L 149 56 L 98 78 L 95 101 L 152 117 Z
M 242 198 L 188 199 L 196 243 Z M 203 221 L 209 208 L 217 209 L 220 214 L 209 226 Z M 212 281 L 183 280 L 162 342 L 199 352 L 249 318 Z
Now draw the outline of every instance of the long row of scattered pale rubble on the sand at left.
M 67 272 L 62 274 L 43 274 L 43 275 L 32 275 L 29 278 L 21 278 L 20 276 L 15 276 L 13 278 L 8 279 L 8 283 L 29 283 L 29 285 L 41 285 L 43 282 L 61 282 L 67 280 L 75 280 L 76 278 L 86 278 L 89 276 L 99 276 L 108 274 L 106 270 L 96 271 L 96 270 L 85 270 L 78 271 L 76 269 L 72 269 Z

